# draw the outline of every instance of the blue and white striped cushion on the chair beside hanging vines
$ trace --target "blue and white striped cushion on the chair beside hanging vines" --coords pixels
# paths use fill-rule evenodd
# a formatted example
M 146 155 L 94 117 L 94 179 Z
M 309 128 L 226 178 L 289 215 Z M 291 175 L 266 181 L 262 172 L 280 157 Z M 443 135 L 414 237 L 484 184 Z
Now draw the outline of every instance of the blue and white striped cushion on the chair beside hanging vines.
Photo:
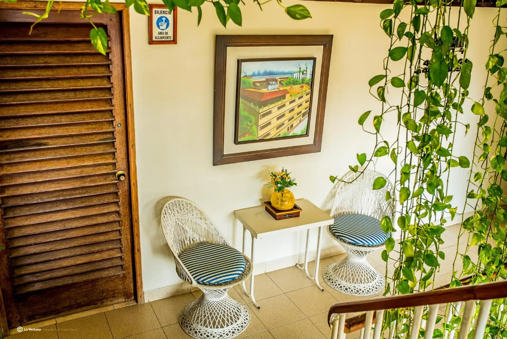
M 363 214 L 341 214 L 329 226 L 342 241 L 360 246 L 377 246 L 385 243 L 389 234 L 380 227 L 380 221 Z

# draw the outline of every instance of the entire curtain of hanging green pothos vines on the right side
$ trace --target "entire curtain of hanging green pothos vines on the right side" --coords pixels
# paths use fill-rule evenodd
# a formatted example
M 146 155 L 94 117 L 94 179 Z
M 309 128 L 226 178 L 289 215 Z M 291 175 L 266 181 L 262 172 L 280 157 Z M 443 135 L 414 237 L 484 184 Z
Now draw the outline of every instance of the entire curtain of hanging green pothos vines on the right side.
M 445 260 L 442 233 L 453 220 L 461 223 L 460 236 L 467 234 L 468 239 L 465 249 L 457 247 L 454 263 L 461 262 L 463 269 L 453 265 L 450 286 L 505 278 L 507 210 L 502 206 L 507 198 L 501 183 L 507 180 L 507 67 L 503 65 L 505 50 L 498 51 L 496 46 L 506 39 L 507 28 L 499 24 L 500 8 L 506 3 L 496 2 L 498 13 L 493 20 L 494 35 L 485 70 L 488 77 L 481 98 L 472 98 L 468 92 L 474 66 L 467 59 L 468 30 L 476 0 L 462 0 L 459 6 L 443 0 L 394 0 L 392 8 L 380 13 L 380 26 L 390 45 L 382 74 L 369 81 L 370 93 L 380 101 L 380 109 L 376 114 L 365 112 L 358 119 L 364 131 L 375 135 L 376 144 L 370 156 L 357 154 L 358 164 L 349 168 L 362 173 L 359 166 L 366 169 L 377 158 L 392 160 L 389 176 L 394 178 L 396 194 L 385 198 L 397 201 L 398 213 L 395 220 L 384 216 L 381 226 L 389 233 L 395 231 L 396 224 L 400 238 L 389 238 L 382 252 L 387 282 L 384 295 L 439 287 L 434 281 Z M 486 101 L 492 101 L 491 105 L 485 105 Z M 469 131 L 465 121 L 472 114 L 477 115 L 478 123 Z M 396 121 L 396 126 L 386 126 L 386 120 Z M 382 132 L 392 133 L 393 128 L 395 138 L 384 139 Z M 476 134 L 472 161 L 454 151 L 455 143 L 469 132 Z M 448 192 L 454 167 L 468 168 L 470 173 L 460 211 Z M 330 179 L 339 180 L 335 176 Z M 379 177 L 372 189 L 385 184 Z M 466 207 L 472 207 L 474 215 L 455 219 L 458 213 L 465 214 Z M 468 255 L 472 246 L 478 246 L 476 262 Z M 388 274 L 391 263 L 394 272 Z M 503 303 L 494 303 L 486 335 L 507 337 Z M 384 326 L 396 336 L 403 335 L 409 328 L 411 312 L 386 312 Z M 451 322 L 446 329 L 458 324 L 459 316 Z M 442 336 L 441 329 L 433 333 L 433 337 Z

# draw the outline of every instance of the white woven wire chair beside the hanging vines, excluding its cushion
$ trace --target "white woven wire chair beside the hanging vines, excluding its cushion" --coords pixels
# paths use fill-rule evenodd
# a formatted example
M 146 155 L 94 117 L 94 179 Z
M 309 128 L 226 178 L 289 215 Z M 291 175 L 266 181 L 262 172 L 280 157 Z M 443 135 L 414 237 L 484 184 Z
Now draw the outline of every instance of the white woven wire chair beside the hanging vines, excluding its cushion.
M 357 176 L 359 173 L 348 172 L 342 180 L 350 182 Z M 378 177 L 384 177 L 386 185 L 379 190 L 373 190 L 373 182 Z M 393 197 L 394 186 L 384 175 L 366 170 L 352 183 L 339 182 L 337 186 L 331 216 L 336 218 L 344 214 L 359 214 L 376 220 L 383 216 L 392 219 L 394 201 L 387 201 L 386 193 L 390 192 Z M 380 291 L 385 285 L 384 277 L 370 265 L 367 256 L 383 247 L 385 241 L 376 245 L 357 245 L 340 238 L 331 230 L 332 226 L 328 227 L 329 234 L 343 246 L 348 256 L 325 268 L 325 282 L 338 291 L 353 295 L 369 295 Z

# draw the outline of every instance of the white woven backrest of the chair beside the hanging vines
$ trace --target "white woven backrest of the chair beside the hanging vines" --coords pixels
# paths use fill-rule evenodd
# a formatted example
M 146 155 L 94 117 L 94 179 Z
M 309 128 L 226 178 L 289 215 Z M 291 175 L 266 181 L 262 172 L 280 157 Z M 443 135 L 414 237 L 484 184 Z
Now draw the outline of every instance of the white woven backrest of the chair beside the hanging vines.
M 360 171 L 359 171 L 360 172 Z M 331 215 L 358 213 L 380 220 L 383 216 L 391 219 L 394 214 L 394 200 L 386 200 L 386 193 L 394 196 L 394 186 L 383 174 L 365 170 L 363 174 L 348 172 L 337 183 L 336 195 L 331 209 Z M 373 182 L 383 177 L 386 184 L 383 188 L 374 190 Z M 355 179 L 355 180 L 354 180 Z

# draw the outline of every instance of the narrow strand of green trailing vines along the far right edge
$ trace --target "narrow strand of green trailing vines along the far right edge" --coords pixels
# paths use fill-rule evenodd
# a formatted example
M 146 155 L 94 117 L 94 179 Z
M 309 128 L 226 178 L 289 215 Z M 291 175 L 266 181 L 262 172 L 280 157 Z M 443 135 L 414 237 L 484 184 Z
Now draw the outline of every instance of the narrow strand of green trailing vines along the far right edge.
M 505 2 L 497 2 L 498 6 Z M 461 237 L 467 231 L 467 247 L 464 253 L 457 253 L 462 261 L 461 273 L 454 272 L 453 284 L 458 285 L 462 276 L 473 275 L 472 283 L 505 279 L 507 261 L 504 206 L 507 197 L 503 194 L 502 183 L 507 180 L 504 169 L 507 154 L 507 68 L 503 66 L 505 51 L 498 51 L 498 43 L 507 39 L 499 25 L 500 8 L 493 19 L 494 37 L 488 60 L 483 97 L 479 100 L 482 110 L 475 137 L 474 159 L 467 183 L 465 207 L 475 213 L 461 221 Z M 475 105 L 475 104 L 474 104 Z M 490 122 L 487 124 L 487 122 Z M 474 262 L 467 254 L 469 247 L 478 246 L 479 261 Z

